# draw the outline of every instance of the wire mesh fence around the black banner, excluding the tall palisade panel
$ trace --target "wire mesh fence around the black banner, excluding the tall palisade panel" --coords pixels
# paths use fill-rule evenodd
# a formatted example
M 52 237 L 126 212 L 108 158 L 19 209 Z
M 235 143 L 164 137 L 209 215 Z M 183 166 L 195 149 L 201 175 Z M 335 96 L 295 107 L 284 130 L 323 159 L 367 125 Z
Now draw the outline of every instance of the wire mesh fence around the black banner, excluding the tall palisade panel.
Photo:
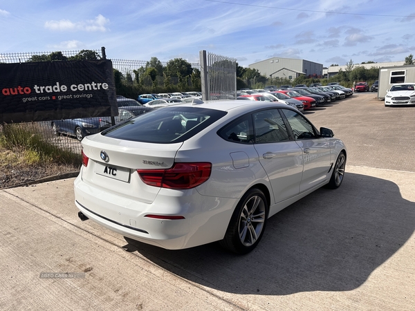
M 37 52 L 37 53 L 3 53 L 0 54 L 0 64 L 24 64 L 30 62 L 65 62 L 76 60 L 100 60 L 107 59 L 105 48 L 98 50 L 69 50 L 55 52 Z M 153 59 L 151 59 L 153 60 Z M 113 76 L 116 82 L 116 93 L 122 97 L 135 100 L 142 93 L 167 93 L 176 91 L 190 91 L 193 84 L 198 84 L 196 79 L 190 76 L 174 76 L 163 73 L 167 62 L 151 62 L 140 60 L 111 59 L 113 67 Z M 155 64 L 153 64 L 155 63 Z M 196 75 L 199 75 L 199 86 L 196 85 L 196 91 L 200 91 L 200 72 L 199 63 L 190 64 L 192 69 L 196 69 Z M 156 75 L 151 75 L 153 71 L 148 68 L 156 67 Z M 17 88 L 17 85 L 13 85 Z M 20 86 L 19 86 L 20 87 Z M 3 113 L 0 109 L 0 113 Z M 111 120 L 110 120 L 111 121 Z M 1 122 L 0 122 L 1 123 Z M 95 133 L 96 126 L 99 129 L 107 127 L 109 124 L 107 118 L 84 117 L 81 119 L 71 120 L 49 120 L 42 122 L 8 122 L 0 124 L 0 135 L 7 126 L 15 127 L 15 131 L 35 133 L 42 137 L 46 143 L 53 144 L 60 149 L 80 153 L 80 140 L 84 135 Z M 79 126 L 78 126 L 79 125 Z M 80 129 L 82 131 L 80 131 Z M 99 131 L 99 130 L 98 130 Z

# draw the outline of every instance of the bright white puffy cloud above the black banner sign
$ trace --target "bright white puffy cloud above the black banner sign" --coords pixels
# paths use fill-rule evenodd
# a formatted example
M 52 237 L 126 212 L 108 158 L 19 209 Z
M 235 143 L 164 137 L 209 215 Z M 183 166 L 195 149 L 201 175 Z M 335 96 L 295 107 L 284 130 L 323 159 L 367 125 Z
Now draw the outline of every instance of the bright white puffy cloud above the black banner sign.
M 60 21 L 46 21 L 45 28 L 50 30 L 65 31 L 65 30 L 81 30 L 81 31 L 101 31 L 105 32 L 108 28 L 105 24 L 109 23 L 109 19 L 98 15 L 95 19 L 88 19 L 86 21 L 78 21 L 73 23 L 68 19 L 61 19 Z

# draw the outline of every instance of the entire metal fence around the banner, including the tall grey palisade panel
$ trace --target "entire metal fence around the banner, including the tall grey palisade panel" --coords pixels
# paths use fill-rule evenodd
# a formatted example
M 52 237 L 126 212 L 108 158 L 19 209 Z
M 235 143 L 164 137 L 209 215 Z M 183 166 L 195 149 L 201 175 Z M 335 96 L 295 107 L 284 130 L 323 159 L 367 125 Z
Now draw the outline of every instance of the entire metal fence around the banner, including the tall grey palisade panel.
M 107 59 L 105 48 L 0 54 L 0 64 L 100 59 Z M 214 55 L 204 50 L 200 52 L 200 63 L 187 63 L 183 59 L 160 62 L 156 57 L 152 57 L 149 61 L 111 59 L 111 62 L 117 97 L 122 97 L 124 100 L 136 100 L 141 94 L 188 91 L 202 91 L 203 100 L 232 100 L 237 97 L 236 59 Z M 174 62 L 178 63 L 174 64 Z M 188 71 L 185 73 L 172 69 L 183 68 L 183 65 L 187 66 Z M 17 85 L 12 87 L 16 88 Z M 117 98 L 117 102 L 118 100 Z M 80 140 L 84 135 L 100 131 L 109 124 L 111 123 L 108 117 L 9 123 L 0 124 L 0 135 L 6 126 L 16 126 L 19 131 L 29 131 L 40 135 L 45 142 L 60 149 L 80 153 Z M 93 126 L 102 126 L 102 128 L 96 130 Z M 82 132 L 79 131 L 80 128 Z

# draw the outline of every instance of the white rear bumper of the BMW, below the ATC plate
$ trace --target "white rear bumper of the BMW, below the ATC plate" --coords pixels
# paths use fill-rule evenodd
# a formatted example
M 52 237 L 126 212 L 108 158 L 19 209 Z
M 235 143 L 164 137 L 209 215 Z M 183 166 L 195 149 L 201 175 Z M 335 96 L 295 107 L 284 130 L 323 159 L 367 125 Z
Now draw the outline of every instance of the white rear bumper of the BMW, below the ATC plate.
M 122 236 L 165 249 L 221 240 L 237 205 L 237 199 L 201 196 L 196 190 L 191 196 L 180 196 L 179 191 L 172 196 L 170 189 L 161 189 L 156 200 L 148 204 L 87 185 L 80 176 L 75 179 L 74 190 L 76 207 L 89 219 Z

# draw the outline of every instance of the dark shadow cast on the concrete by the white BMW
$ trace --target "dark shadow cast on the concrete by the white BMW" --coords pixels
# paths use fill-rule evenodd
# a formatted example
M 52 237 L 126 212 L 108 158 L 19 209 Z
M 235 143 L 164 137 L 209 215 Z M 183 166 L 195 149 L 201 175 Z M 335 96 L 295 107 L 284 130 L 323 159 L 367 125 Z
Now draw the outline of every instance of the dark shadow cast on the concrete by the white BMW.
M 172 251 L 126 239 L 124 248 L 214 290 L 288 295 L 358 288 L 414 230 L 415 203 L 398 185 L 347 173 L 339 189 L 319 189 L 270 218 L 247 255 L 218 243 Z

